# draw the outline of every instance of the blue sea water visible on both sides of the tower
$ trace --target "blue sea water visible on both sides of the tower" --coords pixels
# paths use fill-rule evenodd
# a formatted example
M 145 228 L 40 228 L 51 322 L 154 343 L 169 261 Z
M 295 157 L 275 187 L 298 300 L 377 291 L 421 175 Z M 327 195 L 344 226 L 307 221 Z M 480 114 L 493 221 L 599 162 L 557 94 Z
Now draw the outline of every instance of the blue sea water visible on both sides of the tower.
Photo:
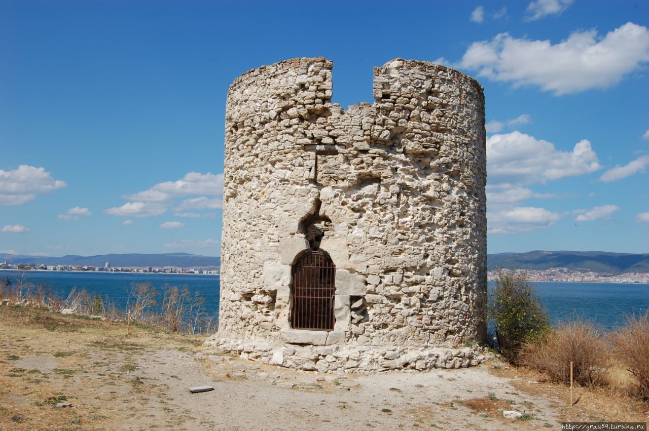
M 119 308 L 126 306 L 130 289 L 138 283 L 151 283 L 158 292 L 167 285 L 187 287 L 204 298 L 208 314 L 216 316 L 219 310 L 219 275 L 68 271 L 27 271 L 23 275 L 0 271 L 0 281 L 6 277 L 12 283 L 21 277 L 34 286 L 40 282 L 60 297 L 67 296 L 72 288 L 84 288 L 107 296 Z M 493 288 L 493 282 L 489 286 Z M 582 318 L 611 331 L 624 323 L 625 316 L 649 310 L 649 284 L 535 282 L 533 286 L 553 324 Z

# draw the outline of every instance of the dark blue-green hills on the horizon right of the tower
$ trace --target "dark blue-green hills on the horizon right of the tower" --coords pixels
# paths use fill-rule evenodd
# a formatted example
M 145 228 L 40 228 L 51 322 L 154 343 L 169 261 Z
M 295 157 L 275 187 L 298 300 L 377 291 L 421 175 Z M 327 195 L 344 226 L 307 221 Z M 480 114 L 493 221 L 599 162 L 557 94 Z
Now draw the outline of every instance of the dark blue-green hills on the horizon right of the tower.
M 649 254 L 608 253 L 607 251 L 529 251 L 487 255 L 487 268 L 547 270 L 550 268 L 585 269 L 622 274 L 649 272 Z

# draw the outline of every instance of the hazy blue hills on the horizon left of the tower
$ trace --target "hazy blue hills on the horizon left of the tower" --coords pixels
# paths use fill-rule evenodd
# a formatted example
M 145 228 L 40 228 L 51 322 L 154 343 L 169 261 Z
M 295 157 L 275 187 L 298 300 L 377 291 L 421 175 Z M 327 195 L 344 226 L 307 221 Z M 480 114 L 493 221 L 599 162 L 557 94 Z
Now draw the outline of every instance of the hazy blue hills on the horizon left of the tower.
M 188 253 L 160 253 L 160 254 L 142 254 L 142 253 L 112 253 L 108 255 L 96 256 L 76 256 L 67 255 L 62 257 L 42 257 L 42 256 L 21 256 L 0 253 L 0 262 L 9 262 L 12 264 L 19 263 L 38 263 L 45 265 L 88 265 L 104 266 L 110 262 L 110 266 L 180 266 L 182 268 L 198 266 L 220 266 L 221 258 L 214 256 L 190 255 Z

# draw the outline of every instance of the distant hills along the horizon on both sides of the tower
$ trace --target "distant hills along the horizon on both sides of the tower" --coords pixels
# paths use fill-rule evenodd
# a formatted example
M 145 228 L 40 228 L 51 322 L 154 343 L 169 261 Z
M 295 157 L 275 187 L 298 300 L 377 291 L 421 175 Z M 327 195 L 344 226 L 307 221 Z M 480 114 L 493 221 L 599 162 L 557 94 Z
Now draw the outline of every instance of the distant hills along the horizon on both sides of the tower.
M 178 266 L 206 268 L 221 265 L 219 256 L 201 256 L 190 253 L 110 253 L 106 255 L 61 257 L 12 255 L 0 253 L 0 262 L 11 264 L 45 264 L 75 266 Z M 520 270 L 548 270 L 568 268 L 600 273 L 623 274 L 649 272 L 649 253 L 611 253 L 609 251 L 545 251 L 527 253 L 495 253 L 487 255 L 487 269 L 510 268 Z

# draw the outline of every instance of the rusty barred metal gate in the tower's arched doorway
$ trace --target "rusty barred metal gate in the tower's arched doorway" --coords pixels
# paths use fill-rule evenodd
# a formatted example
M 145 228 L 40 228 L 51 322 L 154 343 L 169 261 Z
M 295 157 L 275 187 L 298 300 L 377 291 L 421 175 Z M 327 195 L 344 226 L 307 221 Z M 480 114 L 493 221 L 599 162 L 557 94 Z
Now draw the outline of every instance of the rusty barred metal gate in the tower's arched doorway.
M 334 329 L 335 279 L 336 266 L 323 251 L 308 251 L 293 265 L 293 329 Z

